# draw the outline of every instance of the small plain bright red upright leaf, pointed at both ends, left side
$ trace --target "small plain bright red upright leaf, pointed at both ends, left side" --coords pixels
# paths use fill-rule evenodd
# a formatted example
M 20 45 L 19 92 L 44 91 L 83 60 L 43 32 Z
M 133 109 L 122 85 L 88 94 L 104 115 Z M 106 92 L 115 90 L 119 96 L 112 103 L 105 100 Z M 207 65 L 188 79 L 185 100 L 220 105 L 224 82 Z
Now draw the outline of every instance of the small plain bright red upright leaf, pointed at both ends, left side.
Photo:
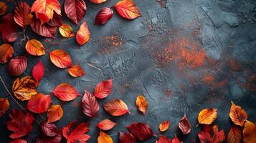
M 34 77 L 34 80 L 37 82 L 40 82 L 42 77 L 44 77 L 44 64 L 42 64 L 42 61 L 39 60 L 37 64 L 32 69 L 32 75 Z

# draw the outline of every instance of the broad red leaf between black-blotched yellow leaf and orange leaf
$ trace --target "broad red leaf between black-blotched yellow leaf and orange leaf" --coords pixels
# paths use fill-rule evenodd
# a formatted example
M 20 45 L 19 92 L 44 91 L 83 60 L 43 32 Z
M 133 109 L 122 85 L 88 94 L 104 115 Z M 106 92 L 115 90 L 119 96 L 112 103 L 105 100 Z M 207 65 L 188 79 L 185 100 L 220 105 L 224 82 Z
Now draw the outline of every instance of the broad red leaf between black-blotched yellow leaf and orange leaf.
M 27 102 L 27 109 L 33 113 L 44 113 L 47 112 L 49 105 L 52 103 L 50 95 L 37 94 Z

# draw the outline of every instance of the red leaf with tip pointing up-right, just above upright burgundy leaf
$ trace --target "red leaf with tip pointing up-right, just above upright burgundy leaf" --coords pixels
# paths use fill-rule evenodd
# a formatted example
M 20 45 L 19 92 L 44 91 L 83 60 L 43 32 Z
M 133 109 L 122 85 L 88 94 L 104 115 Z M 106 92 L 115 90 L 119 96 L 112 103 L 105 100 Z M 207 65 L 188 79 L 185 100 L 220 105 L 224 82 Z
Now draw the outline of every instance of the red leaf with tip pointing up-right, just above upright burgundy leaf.
M 94 89 L 94 95 L 99 99 L 104 99 L 105 97 L 108 97 L 111 90 L 112 90 L 112 79 L 108 79 L 96 85 Z

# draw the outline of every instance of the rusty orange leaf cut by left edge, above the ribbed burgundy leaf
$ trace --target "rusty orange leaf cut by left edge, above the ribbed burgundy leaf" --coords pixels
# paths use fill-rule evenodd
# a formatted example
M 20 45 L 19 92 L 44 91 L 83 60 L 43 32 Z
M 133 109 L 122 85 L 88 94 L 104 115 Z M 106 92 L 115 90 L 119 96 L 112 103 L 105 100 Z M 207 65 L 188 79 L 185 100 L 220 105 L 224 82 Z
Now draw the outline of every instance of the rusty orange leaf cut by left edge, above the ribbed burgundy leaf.
M 5 64 L 14 54 L 14 48 L 10 44 L 0 46 L 0 63 Z

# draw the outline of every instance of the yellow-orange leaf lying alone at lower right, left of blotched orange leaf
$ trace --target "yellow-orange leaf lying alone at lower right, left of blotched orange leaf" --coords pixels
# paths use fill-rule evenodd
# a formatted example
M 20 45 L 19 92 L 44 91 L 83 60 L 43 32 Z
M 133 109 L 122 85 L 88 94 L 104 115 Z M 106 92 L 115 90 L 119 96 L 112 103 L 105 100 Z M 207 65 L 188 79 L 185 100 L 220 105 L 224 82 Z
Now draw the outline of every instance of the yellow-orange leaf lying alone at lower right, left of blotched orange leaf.
M 199 124 L 212 124 L 217 118 L 217 109 L 203 109 L 198 115 Z

